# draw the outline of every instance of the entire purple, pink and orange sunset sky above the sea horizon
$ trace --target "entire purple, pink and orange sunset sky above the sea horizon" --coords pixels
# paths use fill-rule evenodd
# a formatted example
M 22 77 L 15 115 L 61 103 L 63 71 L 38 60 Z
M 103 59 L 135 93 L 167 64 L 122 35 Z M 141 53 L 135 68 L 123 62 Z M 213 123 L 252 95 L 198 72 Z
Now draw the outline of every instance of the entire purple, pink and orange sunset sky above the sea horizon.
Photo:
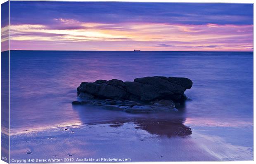
M 11 1 L 10 49 L 253 51 L 253 4 Z

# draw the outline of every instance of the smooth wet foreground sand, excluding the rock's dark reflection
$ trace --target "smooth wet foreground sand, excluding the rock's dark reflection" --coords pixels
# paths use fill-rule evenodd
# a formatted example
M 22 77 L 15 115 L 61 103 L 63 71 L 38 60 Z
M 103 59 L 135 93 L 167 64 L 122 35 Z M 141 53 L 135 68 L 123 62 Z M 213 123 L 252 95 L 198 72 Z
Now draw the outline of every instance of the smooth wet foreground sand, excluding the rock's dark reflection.
M 38 131 L 33 134 L 27 133 L 11 136 L 12 142 L 16 143 L 11 147 L 11 159 L 19 159 L 19 156 L 24 156 L 27 152 L 29 152 L 27 154 L 29 158 L 38 159 L 52 157 L 62 159 L 69 156 L 75 159 L 82 157 L 97 158 L 99 156 L 110 157 L 111 153 L 115 153 L 114 157 L 116 158 L 124 158 L 123 154 L 126 154 L 132 159 L 131 162 L 250 160 L 250 157 L 253 155 L 253 151 L 247 150 L 249 147 L 226 143 L 223 140 L 224 138 L 222 139 L 219 136 L 209 136 L 208 132 L 206 133 L 202 127 L 197 127 L 196 129 L 192 127 L 194 130 L 191 136 L 169 138 L 167 136 L 150 134 L 148 131 L 136 128 L 139 126 L 130 122 L 124 123 L 121 126 L 112 125 L 114 124 L 83 124 L 70 126 L 68 130 L 63 130 L 63 127 L 61 127 Z M 208 131 L 211 129 L 209 127 L 205 128 Z M 126 130 L 124 131 L 124 129 Z M 109 138 L 110 136 L 111 138 Z M 118 138 L 116 138 L 117 136 Z M 20 143 L 19 141 L 22 142 Z M 40 142 L 40 145 L 42 145 L 39 149 L 33 146 L 37 142 Z M 130 142 L 133 144 L 130 145 Z M 109 144 L 114 148 L 105 151 L 110 146 Z M 161 149 L 154 149 L 159 144 Z M 170 144 L 172 145 L 171 147 Z M 150 148 L 147 145 L 150 145 Z M 205 147 L 205 145 L 208 145 L 208 147 Z M 87 148 L 92 153 L 89 153 Z M 123 152 L 117 152 L 117 148 L 125 149 L 123 149 Z M 143 158 L 137 158 L 134 153 L 128 153 L 131 148 L 147 151 L 142 153 Z M 173 149 L 175 149 L 175 153 Z M 52 151 L 47 152 L 46 150 Z M 178 155 L 180 151 L 183 152 L 183 156 Z

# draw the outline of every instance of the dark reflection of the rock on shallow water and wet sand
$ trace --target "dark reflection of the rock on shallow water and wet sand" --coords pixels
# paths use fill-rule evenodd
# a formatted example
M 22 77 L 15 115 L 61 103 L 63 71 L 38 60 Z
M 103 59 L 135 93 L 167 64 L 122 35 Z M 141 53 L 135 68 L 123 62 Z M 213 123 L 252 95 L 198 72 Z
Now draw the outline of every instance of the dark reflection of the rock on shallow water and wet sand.
M 183 112 L 185 104 L 182 104 Z M 145 130 L 158 136 L 185 137 L 192 134 L 192 129 L 183 123 L 183 112 L 178 113 L 153 113 L 153 114 L 129 114 L 126 112 L 104 110 L 90 105 L 73 105 L 78 112 L 81 122 L 84 124 L 111 124 L 110 127 L 120 128 L 125 123 L 133 123 L 135 129 Z

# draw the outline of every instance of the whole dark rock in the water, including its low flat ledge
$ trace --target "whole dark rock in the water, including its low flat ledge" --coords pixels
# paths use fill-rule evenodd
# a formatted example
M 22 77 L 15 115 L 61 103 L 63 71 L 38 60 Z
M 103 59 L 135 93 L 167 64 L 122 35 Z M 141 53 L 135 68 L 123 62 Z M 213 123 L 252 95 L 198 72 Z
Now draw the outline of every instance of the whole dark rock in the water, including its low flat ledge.
M 133 82 L 122 80 L 96 80 L 82 82 L 78 97 L 86 101 L 73 101 L 73 105 L 100 105 L 109 110 L 130 113 L 177 111 L 175 101 L 186 99 L 184 91 L 192 87 L 184 77 L 142 77 Z

